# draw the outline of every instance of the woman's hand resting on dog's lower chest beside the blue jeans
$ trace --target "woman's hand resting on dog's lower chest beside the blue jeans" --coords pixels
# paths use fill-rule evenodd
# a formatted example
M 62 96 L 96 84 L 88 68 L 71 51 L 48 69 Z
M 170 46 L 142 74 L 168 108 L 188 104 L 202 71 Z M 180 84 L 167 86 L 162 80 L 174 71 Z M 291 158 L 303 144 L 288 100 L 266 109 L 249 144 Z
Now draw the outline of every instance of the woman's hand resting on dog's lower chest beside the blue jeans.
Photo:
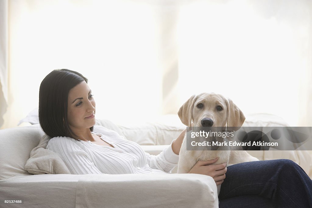
M 217 159 L 218 158 L 208 161 L 198 161 L 188 173 L 197 173 L 211 176 L 216 184 L 220 185 L 225 179 L 225 173 L 227 172 L 227 163 L 211 165 L 217 162 Z

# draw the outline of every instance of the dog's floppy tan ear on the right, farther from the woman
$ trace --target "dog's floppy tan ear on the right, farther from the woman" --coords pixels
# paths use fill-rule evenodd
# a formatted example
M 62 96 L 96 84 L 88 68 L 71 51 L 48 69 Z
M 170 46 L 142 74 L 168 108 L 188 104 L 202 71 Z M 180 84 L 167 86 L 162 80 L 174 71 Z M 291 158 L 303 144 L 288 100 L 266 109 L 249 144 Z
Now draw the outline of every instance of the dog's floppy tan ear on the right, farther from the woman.
M 227 127 L 238 127 L 231 128 L 237 131 L 245 121 L 243 112 L 233 103 L 231 99 L 226 99 L 227 103 Z

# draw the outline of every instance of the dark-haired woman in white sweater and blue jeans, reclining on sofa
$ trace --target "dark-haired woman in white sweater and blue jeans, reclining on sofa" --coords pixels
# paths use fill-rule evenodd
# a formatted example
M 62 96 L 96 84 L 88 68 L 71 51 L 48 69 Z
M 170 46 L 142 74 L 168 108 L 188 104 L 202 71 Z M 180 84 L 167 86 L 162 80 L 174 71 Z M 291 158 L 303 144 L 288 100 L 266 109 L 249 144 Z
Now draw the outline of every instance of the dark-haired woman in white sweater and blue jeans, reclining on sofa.
M 185 131 L 163 152 L 150 155 L 118 133 L 94 126 L 95 100 L 87 83 L 83 75 L 66 69 L 53 70 L 42 81 L 39 121 L 52 137 L 46 148 L 59 154 L 72 174 L 171 172 Z M 220 207 L 312 207 L 312 182 L 290 160 L 246 162 L 228 169 L 226 164 L 211 165 L 216 161 L 198 161 L 189 173 L 222 184 Z

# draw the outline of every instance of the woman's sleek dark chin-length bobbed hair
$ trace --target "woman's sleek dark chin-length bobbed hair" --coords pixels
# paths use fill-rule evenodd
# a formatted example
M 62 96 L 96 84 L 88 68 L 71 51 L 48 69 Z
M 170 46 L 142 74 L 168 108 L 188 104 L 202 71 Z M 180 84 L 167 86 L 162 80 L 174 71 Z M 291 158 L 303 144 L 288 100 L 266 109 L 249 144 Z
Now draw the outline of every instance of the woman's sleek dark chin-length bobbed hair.
M 53 70 L 42 80 L 39 89 L 39 123 L 48 136 L 76 139 L 67 120 L 68 93 L 83 81 L 88 83 L 83 75 L 68 69 Z M 90 130 L 93 131 L 93 127 Z

